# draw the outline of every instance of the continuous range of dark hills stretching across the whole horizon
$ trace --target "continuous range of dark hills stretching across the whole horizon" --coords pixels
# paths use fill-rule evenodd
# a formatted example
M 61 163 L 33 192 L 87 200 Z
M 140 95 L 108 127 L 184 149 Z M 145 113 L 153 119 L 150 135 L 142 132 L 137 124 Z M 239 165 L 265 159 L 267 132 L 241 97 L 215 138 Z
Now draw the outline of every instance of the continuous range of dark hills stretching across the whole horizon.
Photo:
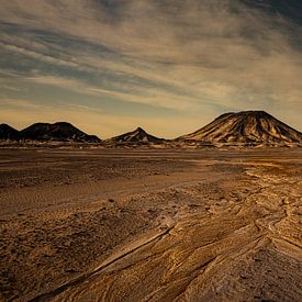
M 69 143 L 101 143 L 115 145 L 219 146 L 226 145 L 289 145 L 302 146 L 302 133 L 277 120 L 265 111 L 230 112 L 220 115 L 200 130 L 176 139 L 164 139 L 148 134 L 141 127 L 132 132 L 101 141 L 88 135 L 70 123 L 35 123 L 22 131 L 0 124 L 0 141 L 37 141 Z

